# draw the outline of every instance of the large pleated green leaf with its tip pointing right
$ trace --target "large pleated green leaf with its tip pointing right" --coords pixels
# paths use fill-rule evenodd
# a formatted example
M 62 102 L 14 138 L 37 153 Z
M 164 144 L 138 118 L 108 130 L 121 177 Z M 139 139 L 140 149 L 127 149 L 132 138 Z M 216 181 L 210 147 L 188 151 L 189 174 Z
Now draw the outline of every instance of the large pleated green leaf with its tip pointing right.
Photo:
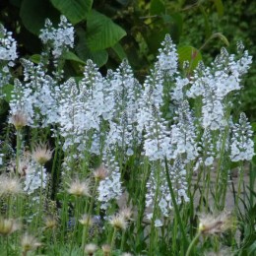
M 112 47 L 126 35 L 111 19 L 94 10 L 88 16 L 87 29 L 87 44 L 93 51 Z

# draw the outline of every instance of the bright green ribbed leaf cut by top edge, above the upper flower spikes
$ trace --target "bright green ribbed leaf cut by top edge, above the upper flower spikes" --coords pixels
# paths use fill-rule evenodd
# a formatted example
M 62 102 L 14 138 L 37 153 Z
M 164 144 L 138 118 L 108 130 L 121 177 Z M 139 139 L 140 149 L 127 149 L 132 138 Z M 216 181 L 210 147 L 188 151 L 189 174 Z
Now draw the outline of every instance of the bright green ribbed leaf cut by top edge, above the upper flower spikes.
M 44 0 L 45 1 L 45 0 Z M 72 24 L 87 18 L 92 9 L 93 0 L 50 0 L 55 8 L 65 15 Z

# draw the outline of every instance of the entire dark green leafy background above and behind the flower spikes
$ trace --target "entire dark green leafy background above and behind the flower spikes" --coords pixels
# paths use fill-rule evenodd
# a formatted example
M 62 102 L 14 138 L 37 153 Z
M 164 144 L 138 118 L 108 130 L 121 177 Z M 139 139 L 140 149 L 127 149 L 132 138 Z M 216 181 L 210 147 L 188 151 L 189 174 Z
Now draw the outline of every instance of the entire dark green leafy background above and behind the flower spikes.
M 40 52 L 37 35 L 45 19 L 57 24 L 63 14 L 76 29 L 73 53 L 77 56 L 66 56 L 69 74 L 79 76 L 79 64 L 89 58 L 102 72 L 128 58 L 141 80 L 148 74 L 167 32 L 179 46 L 181 61 L 191 60 L 192 50 L 199 50 L 193 55 L 196 57 L 193 68 L 201 58 L 207 62 L 220 46 L 233 51 L 239 40 L 255 56 L 255 13 L 256 3 L 246 0 L 6 0 L 0 3 L 0 22 L 14 32 L 20 43 L 20 55 Z M 18 76 L 19 68 L 17 63 Z M 244 107 L 253 118 L 255 70 L 253 65 L 243 95 Z

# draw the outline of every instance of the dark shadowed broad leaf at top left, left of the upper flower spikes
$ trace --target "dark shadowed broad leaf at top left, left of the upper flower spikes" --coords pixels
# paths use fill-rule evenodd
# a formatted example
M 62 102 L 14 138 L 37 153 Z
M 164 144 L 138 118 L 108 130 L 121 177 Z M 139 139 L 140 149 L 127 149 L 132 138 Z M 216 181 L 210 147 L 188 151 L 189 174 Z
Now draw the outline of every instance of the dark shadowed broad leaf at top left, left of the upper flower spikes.
M 20 16 L 26 29 L 38 34 L 43 29 L 46 18 L 50 19 L 53 24 L 58 24 L 60 15 L 48 1 L 24 0 Z

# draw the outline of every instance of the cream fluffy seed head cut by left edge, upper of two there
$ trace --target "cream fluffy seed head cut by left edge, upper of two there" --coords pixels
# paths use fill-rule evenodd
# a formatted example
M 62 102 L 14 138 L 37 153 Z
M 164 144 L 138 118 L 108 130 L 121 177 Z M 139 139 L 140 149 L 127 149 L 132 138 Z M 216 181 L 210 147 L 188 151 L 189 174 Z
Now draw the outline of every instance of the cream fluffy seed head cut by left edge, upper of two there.
M 17 177 L 0 175 L 0 196 L 21 195 L 22 193 L 22 184 Z

